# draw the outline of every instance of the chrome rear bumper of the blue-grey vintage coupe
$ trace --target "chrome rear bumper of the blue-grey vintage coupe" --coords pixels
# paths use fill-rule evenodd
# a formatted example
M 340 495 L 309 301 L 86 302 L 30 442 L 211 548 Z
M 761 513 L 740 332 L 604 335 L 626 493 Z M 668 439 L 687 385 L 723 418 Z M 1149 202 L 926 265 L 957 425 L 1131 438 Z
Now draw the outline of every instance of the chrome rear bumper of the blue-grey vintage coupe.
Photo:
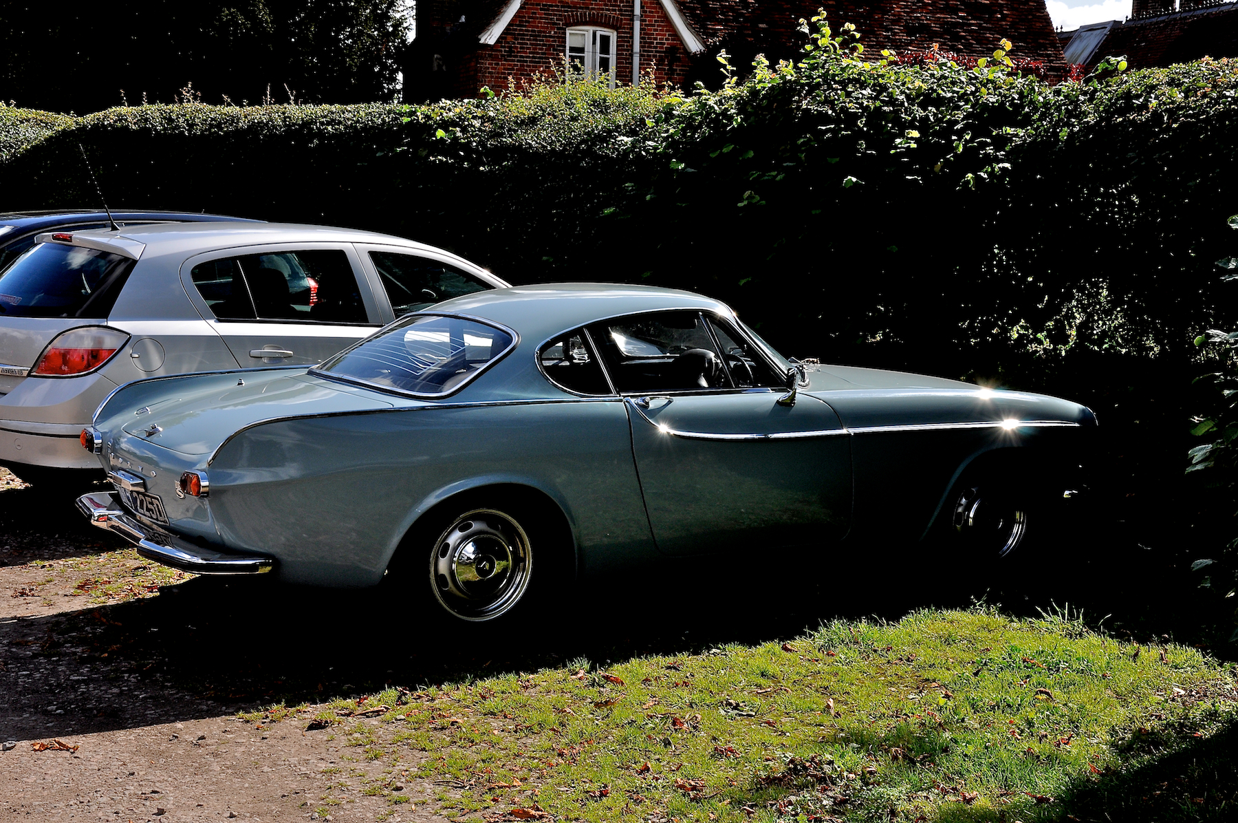
M 121 506 L 116 495 L 93 492 L 78 497 L 78 511 L 94 526 L 115 532 L 137 547 L 137 554 L 147 560 L 192 571 L 193 574 L 262 574 L 270 571 L 275 560 L 261 555 L 243 555 L 215 552 L 182 540 L 144 523 L 139 523 Z

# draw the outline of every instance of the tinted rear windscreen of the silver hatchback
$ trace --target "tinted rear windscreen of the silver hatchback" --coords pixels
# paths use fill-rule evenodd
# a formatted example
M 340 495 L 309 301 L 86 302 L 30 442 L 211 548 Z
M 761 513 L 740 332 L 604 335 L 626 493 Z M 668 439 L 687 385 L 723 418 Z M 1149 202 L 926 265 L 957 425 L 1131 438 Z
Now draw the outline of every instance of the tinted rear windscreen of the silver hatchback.
M 134 260 L 63 243 L 40 243 L 0 273 L 0 315 L 106 317 Z

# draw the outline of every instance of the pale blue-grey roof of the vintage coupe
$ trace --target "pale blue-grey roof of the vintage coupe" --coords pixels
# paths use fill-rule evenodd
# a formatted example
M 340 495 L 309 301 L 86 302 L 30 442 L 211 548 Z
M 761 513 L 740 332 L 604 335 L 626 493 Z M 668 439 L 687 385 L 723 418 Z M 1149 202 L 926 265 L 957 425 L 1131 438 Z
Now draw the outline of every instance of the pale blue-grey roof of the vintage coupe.
M 598 320 L 671 309 L 734 314 L 724 302 L 691 291 L 618 283 L 547 283 L 477 291 L 444 300 L 427 314 L 490 320 L 514 328 L 525 346 Z

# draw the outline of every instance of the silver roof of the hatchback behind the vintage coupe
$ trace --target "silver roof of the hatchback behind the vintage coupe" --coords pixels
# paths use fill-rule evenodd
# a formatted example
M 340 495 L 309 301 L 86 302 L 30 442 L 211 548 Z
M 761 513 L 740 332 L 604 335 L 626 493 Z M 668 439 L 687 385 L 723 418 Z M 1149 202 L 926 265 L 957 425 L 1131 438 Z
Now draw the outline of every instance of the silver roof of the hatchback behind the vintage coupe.
M 119 232 L 105 228 L 76 232 L 74 235 L 106 244 L 116 240 L 118 247 L 132 248 L 134 243 L 145 247 L 144 255 L 184 254 L 193 255 L 215 249 L 228 249 L 241 245 L 260 245 L 264 243 L 394 243 L 437 252 L 404 237 L 364 232 L 361 229 L 339 228 L 334 226 L 311 226 L 306 223 L 256 223 L 256 222 L 215 222 L 215 223 L 154 223 L 150 226 L 125 226 Z M 94 243 L 92 243 L 94 245 Z

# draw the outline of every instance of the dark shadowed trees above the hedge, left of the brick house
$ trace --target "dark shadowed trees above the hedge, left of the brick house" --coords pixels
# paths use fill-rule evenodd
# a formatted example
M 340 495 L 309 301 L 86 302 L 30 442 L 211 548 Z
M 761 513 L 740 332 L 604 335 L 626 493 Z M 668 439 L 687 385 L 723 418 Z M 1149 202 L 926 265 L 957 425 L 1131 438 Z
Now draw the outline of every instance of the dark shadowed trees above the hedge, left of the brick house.
M 26 107 L 79 113 L 125 98 L 391 100 L 407 7 L 406 0 L 116 0 L 108 14 L 84 4 L 48 14 L 0 0 L 0 87 Z

